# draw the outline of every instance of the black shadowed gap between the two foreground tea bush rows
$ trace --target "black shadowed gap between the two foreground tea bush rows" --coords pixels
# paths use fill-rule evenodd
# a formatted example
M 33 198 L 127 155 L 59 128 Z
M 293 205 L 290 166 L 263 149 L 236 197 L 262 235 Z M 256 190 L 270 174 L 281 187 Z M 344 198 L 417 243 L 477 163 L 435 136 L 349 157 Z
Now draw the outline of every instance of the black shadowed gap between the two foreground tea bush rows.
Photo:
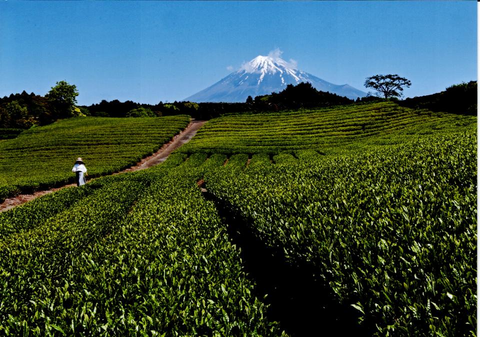
M 258 298 L 267 295 L 269 321 L 279 322 L 291 337 L 371 336 L 373 329 L 357 323 L 358 313 L 350 305 L 342 305 L 314 275 L 309 266 L 293 266 L 283 254 L 267 247 L 253 235 L 249 219 L 232 211 L 232 207 L 203 189 L 205 199 L 212 201 L 227 228 L 233 244 L 240 248 L 242 265 L 255 284 Z

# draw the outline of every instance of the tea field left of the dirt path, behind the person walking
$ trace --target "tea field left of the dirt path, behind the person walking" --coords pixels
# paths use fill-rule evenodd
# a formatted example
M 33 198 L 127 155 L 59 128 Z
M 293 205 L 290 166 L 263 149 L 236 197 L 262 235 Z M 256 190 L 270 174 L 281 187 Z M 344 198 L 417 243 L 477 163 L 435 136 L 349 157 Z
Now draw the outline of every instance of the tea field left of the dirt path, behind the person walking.
M 189 123 L 188 116 L 75 118 L 0 142 L 0 201 L 74 181 L 82 157 L 90 177 L 111 174 L 155 152 Z

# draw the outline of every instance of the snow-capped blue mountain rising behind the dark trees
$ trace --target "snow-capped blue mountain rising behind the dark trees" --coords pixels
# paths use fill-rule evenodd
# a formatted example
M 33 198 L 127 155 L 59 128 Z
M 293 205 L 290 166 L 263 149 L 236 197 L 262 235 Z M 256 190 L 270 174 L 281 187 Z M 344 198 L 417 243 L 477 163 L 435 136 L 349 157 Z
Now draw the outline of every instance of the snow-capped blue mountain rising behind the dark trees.
M 319 91 L 328 91 L 350 99 L 364 97 L 366 93 L 348 84 L 336 85 L 294 68 L 279 56 L 257 56 L 241 68 L 212 86 L 184 99 L 190 102 L 245 102 L 248 96 L 255 98 L 280 92 L 288 84 L 309 82 Z

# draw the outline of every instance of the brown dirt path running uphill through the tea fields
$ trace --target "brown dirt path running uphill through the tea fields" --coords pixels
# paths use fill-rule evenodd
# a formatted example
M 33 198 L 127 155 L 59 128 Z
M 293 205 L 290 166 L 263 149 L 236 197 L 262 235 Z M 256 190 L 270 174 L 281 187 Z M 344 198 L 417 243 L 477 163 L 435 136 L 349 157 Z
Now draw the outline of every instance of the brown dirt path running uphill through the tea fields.
M 198 129 L 205 123 L 206 121 L 192 120 L 190 124 L 186 126 L 185 129 L 183 129 L 178 135 L 173 137 L 168 143 L 164 144 L 157 152 L 155 152 L 151 156 L 143 158 L 136 165 L 114 174 L 143 170 L 164 162 L 166 158 L 168 158 L 170 153 L 172 153 L 173 151 L 178 149 L 180 146 L 190 141 L 190 139 L 193 138 L 193 136 L 196 134 Z M 7 198 L 5 199 L 5 201 L 3 201 L 3 203 L 0 204 L 0 212 L 9 210 L 10 208 L 13 208 L 27 201 L 38 198 L 39 196 L 42 196 L 51 192 L 55 192 L 62 188 L 71 187 L 71 186 L 75 186 L 75 184 L 68 184 L 58 188 L 51 188 L 44 191 L 36 191 L 32 194 L 20 194 L 12 198 Z

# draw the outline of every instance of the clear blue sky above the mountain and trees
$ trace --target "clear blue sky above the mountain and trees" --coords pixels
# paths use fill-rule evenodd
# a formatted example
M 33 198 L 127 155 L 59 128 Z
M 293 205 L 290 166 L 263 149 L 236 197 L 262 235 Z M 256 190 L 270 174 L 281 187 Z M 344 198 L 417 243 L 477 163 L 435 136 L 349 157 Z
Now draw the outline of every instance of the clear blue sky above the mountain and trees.
M 77 86 L 78 104 L 182 100 L 279 49 L 334 84 L 398 74 L 405 97 L 477 77 L 464 2 L 0 2 L 0 97 Z

